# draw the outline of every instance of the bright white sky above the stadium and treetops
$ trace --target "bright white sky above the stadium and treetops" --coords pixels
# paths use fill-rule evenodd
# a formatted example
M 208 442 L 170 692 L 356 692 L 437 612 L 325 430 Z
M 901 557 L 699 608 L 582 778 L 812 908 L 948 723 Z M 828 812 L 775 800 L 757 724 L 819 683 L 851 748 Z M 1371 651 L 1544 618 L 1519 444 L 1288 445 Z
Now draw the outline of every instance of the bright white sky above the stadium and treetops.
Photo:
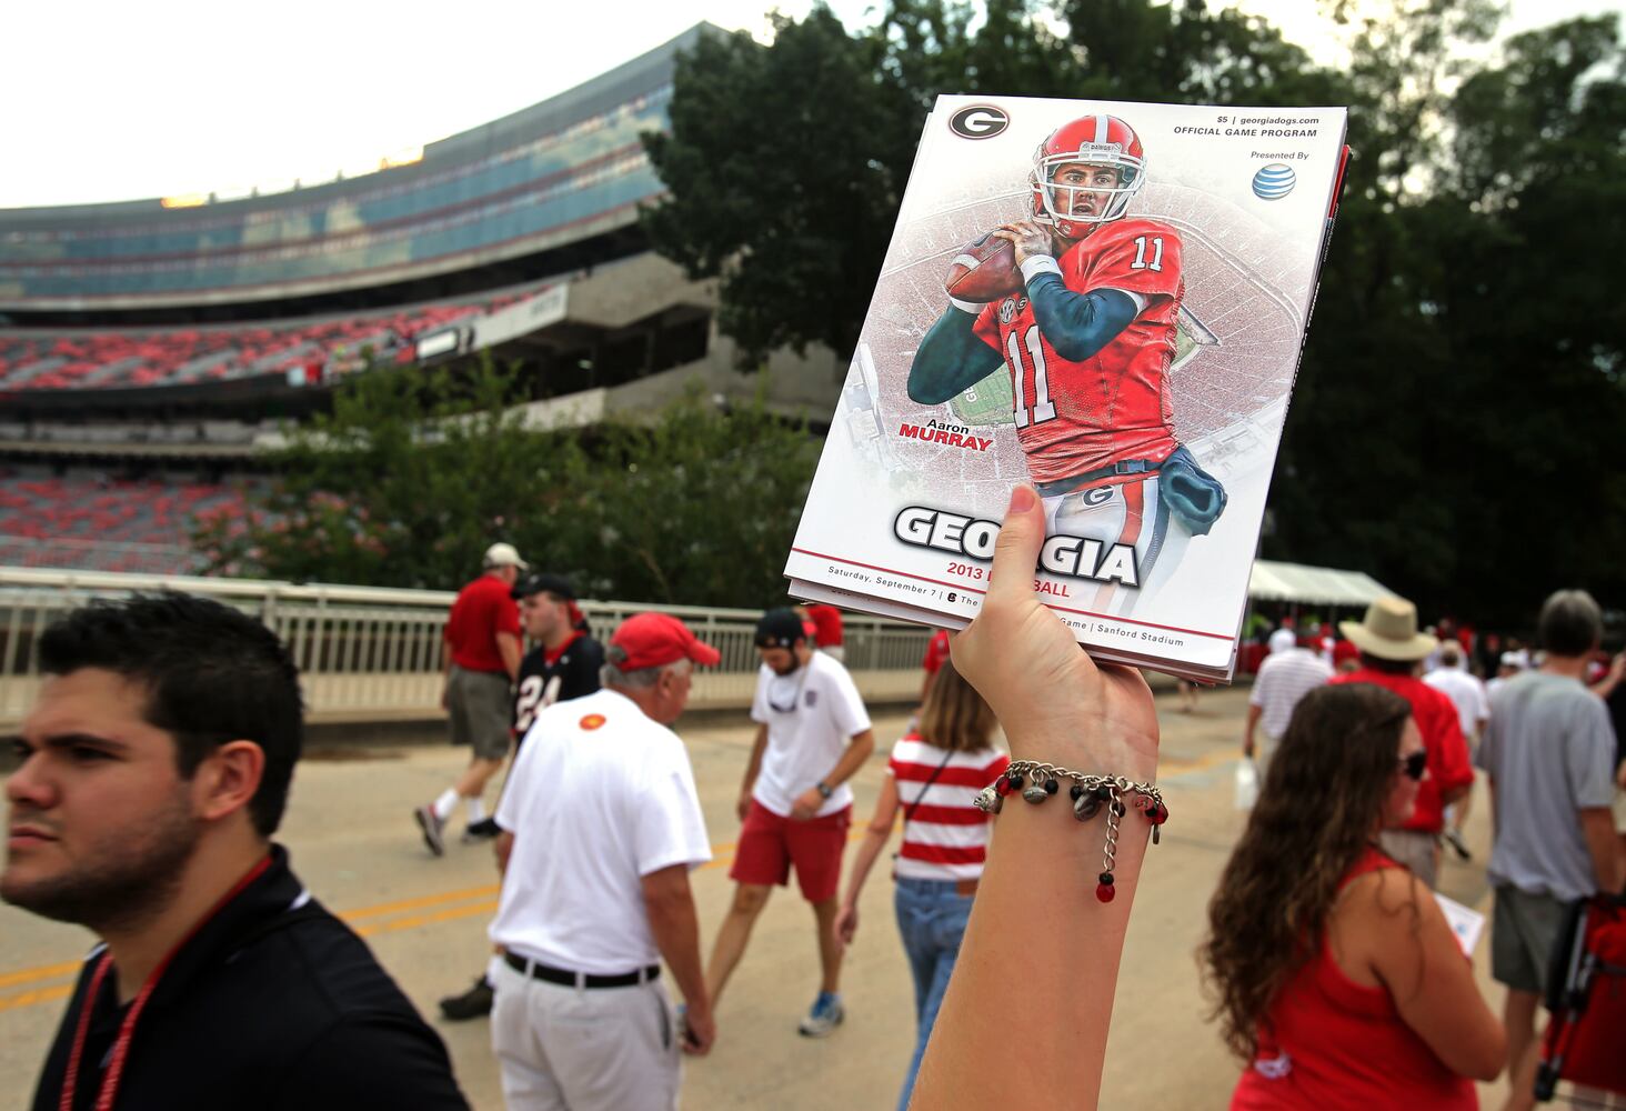
M 3 5 L 0 208 L 234 195 L 361 172 L 561 93 L 701 20 L 761 36 L 771 3 Z M 777 7 L 800 16 L 810 3 Z M 849 28 L 868 23 L 873 7 L 831 0 Z M 1241 7 L 1320 59 L 1337 52 L 1311 0 Z M 1618 13 L 1626 0 L 1511 0 L 1511 8 L 1507 28 L 1525 29 Z

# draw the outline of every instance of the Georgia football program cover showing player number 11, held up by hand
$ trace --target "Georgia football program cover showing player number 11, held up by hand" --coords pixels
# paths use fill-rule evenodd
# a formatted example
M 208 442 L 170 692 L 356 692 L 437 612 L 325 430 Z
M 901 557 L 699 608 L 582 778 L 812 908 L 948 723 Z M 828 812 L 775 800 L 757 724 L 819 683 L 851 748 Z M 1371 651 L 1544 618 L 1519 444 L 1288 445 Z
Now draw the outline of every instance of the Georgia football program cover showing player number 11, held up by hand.
M 1343 137 L 1343 109 L 940 98 L 793 592 L 961 626 L 1033 481 L 1080 643 L 1228 678 Z

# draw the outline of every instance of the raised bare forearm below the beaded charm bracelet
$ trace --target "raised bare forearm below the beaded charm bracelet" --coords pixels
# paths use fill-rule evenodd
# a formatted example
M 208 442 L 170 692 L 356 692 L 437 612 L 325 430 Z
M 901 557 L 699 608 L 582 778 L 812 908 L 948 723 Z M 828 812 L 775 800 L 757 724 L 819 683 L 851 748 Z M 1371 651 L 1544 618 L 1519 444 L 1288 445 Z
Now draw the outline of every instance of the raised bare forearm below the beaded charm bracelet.
M 1107 766 L 1137 781 L 1154 773 L 1122 752 L 1088 771 Z M 1065 792 L 1039 805 L 1013 794 L 995 828 L 914 1106 L 1093 1108 L 1150 828 L 1133 808 L 1122 818 L 1111 903 L 1096 898 L 1104 813 L 1081 825 Z M 989 1046 L 1000 1048 L 995 1067 Z

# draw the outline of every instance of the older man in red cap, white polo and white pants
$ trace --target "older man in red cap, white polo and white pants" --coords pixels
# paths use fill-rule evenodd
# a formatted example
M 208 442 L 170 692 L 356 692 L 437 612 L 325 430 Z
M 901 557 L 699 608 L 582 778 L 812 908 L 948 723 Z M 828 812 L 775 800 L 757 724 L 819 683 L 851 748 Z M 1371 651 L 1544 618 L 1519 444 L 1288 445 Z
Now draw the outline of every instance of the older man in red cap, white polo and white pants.
M 537 714 L 498 805 L 491 1046 L 509 1111 L 670 1111 L 680 1046 L 704 1054 L 715 1038 L 689 893 L 711 843 L 668 725 L 694 665 L 719 654 L 676 618 L 637 613 L 605 659 L 603 690 Z

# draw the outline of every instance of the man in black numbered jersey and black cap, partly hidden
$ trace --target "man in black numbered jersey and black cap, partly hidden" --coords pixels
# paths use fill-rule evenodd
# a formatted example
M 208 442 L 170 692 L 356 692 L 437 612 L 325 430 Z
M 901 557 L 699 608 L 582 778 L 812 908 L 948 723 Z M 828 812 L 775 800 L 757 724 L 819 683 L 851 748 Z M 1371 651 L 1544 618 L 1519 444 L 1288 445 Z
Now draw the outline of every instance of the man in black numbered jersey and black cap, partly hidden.
M 553 703 L 566 703 L 598 690 L 598 670 L 605 662 L 603 646 L 587 631 L 587 620 L 576 608 L 576 590 L 569 579 L 556 574 L 533 574 L 514 586 L 519 621 L 535 647 L 519 664 L 514 695 L 514 745 L 525 742 L 532 721 Z M 509 765 L 512 768 L 512 765 Z M 472 838 L 494 838 L 498 823 L 486 818 L 468 826 Z M 481 973 L 462 996 L 441 1000 L 441 1013 L 450 1020 L 480 1018 L 491 1013 L 491 978 Z

